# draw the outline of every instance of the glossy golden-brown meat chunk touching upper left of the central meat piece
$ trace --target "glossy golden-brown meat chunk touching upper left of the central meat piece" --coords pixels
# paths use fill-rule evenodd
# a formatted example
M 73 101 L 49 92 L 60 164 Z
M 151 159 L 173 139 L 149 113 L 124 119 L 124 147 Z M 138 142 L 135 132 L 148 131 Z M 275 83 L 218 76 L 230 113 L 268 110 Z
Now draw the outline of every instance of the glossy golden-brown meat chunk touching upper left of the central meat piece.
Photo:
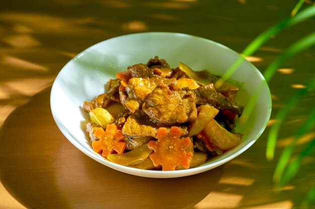
M 174 81 L 174 79 L 161 77 L 129 79 L 125 90 L 127 94 L 126 102 L 124 103 L 126 108 L 134 113 L 141 108 L 144 99 L 153 91 L 157 84 L 160 82 L 169 84 L 172 81 Z

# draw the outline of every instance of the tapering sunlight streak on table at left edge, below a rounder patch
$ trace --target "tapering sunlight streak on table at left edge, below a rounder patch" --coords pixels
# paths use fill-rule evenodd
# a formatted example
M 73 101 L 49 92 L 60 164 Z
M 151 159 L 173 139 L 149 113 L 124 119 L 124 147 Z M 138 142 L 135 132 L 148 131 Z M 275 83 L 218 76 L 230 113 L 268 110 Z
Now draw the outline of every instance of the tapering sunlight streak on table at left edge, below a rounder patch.
M 31 71 L 42 71 L 42 72 L 48 72 L 49 69 L 45 66 L 38 65 L 36 63 L 32 63 L 26 60 L 22 60 L 17 57 L 12 57 L 5 55 L 0 59 L 0 63 L 3 63 L 8 66 L 19 68 L 19 70 L 31 70 Z

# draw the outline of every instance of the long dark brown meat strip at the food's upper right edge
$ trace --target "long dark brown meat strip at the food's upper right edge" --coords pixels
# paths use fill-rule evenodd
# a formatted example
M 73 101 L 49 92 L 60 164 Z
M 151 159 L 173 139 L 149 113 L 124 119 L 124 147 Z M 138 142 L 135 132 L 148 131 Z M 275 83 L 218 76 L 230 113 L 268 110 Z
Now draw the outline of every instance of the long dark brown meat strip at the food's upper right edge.
M 206 86 L 200 86 L 192 91 L 194 91 L 197 96 L 197 105 L 209 104 L 218 110 L 229 110 L 236 113 L 238 116 L 242 115 L 244 107 L 217 92 L 212 83 Z

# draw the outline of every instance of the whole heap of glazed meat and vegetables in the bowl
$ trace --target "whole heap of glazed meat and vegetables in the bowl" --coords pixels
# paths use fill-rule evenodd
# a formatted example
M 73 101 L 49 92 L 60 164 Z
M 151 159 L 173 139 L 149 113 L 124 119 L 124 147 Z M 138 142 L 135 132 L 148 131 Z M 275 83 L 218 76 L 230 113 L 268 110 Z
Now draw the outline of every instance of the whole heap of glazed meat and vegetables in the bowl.
M 235 120 L 243 106 L 239 88 L 218 77 L 177 68 L 159 57 L 129 66 L 105 85 L 105 93 L 84 102 L 93 149 L 107 160 L 140 169 L 196 167 L 237 146 Z

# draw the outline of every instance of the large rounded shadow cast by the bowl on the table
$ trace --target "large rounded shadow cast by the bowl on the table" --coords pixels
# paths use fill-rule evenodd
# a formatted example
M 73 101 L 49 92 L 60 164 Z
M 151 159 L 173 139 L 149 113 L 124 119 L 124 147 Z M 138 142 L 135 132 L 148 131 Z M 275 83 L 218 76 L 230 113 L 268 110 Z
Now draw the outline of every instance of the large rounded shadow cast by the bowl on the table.
M 1 181 L 28 208 L 191 208 L 221 178 L 222 166 L 170 179 L 108 168 L 61 134 L 49 96 L 50 88 L 34 96 L 0 130 Z

